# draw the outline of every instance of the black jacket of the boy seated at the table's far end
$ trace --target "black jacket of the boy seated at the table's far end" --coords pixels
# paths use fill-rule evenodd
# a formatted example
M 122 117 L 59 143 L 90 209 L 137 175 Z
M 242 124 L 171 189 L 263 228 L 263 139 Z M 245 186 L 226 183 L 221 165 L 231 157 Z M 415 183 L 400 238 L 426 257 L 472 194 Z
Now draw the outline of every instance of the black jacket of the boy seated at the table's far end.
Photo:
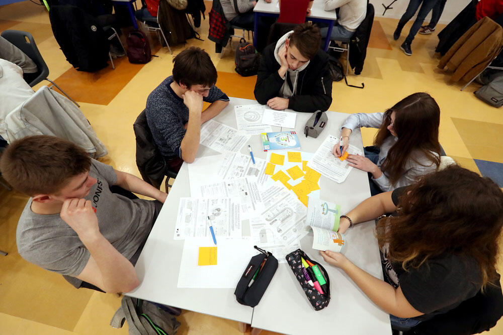
M 275 47 L 276 43 L 270 44 L 262 52 L 254 90 L 255 98 L 261 104 L 266 104 L 269 99 L 278 96 L 284 83 L 284 79 L 278 74 L 281 65 L 274 56 Z M 309 65 L 299 72 L 297 89 L 289 99 L 288 108 L 312 113 L 316 110 L 327 110 L 330 103 L 332 79 L 328 72 L 328 55 L 320 49 Z

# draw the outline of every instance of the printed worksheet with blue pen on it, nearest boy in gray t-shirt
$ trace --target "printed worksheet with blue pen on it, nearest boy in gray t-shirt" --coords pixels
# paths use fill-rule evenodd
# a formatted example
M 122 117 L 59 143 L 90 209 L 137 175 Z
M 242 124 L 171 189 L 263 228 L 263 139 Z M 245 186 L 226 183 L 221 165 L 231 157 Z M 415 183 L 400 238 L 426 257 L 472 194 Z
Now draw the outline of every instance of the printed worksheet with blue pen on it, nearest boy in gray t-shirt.
M 175 240 L 188 237 L 241 237 L 240 204 L 232 198 L 180 198 Z

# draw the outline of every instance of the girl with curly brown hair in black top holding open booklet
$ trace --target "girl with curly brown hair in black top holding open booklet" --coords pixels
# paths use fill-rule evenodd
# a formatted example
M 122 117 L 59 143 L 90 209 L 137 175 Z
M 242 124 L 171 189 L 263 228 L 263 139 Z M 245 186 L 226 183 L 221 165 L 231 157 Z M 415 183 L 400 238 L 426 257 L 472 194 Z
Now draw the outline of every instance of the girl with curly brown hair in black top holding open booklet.
M 339 232 L 393 211 L 376 228 L 384 281 L 343 254 L 320 252 L 390 314 L 392 326 L 410 328 L 446 313 L 496 280 L 503 193 L 492 180 L 451 165 L 366 199 L 341 217 Z

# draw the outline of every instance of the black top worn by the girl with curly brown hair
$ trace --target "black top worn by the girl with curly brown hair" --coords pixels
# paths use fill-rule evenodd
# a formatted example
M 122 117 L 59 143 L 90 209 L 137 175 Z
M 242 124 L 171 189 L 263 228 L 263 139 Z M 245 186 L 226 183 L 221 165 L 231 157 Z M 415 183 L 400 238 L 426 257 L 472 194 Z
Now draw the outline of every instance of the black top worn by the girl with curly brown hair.
M 391 193 L 395 205 L 405 188 L 397 188 Z M 425 313 L 414 319 L 427 320 L 445 313 L 480 290 L 480 268 L 470 256 L 444 254 L 428 260 L 417 269 L 405 271 L 401 263 L 390 262 L 386 258 L 387 249 L 384 246 L 381 253 L 385 280 L 394 287 L 400 286 L 412 307 Z

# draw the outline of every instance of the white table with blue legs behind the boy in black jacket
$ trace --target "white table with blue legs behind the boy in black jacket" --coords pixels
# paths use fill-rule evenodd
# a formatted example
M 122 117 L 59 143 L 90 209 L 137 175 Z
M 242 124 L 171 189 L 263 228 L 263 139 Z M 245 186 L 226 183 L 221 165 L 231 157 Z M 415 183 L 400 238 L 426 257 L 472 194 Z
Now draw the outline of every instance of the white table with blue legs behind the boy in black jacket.
M 288 0 L 285 0 L 288 1 Z M 277 17 L 280 15 L 280 8 L 278 7 L 278 0 L 272 0 L 271 3 L 266 3 L 264 0 L 258 0 L 257 5 L 254 8 L 255 20 L 254 20 L 254 45 L 257 45 L 258 36 L 258 24 L 259 18 L 261 16 Z M 333 23 L 337 20 L 336 11 L 325 11 L 325 1 L 324 0 L 314 0 L 313 6 L 311 7 L 311 13 L 306 16 L 306 21 L 323 22 L 328 24 L 328 33 L 326 36 L 330 36 L 333 28 Z M 325 39 L 324 50 L 328 50 L 328 44 L 330 43 L 330 38 Z

